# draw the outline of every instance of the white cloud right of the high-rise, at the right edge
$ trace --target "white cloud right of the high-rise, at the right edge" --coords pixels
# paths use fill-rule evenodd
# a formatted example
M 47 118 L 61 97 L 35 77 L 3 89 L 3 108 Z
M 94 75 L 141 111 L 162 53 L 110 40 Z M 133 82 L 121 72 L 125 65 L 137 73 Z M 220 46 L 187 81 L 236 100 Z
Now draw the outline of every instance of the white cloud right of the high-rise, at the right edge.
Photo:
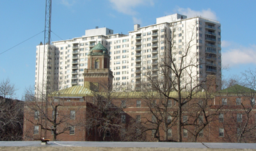
M 256 45 L 250 47 L 232 45 L 222 52 L 222 64 L 236 66 L 238 64 L 256 64 Z

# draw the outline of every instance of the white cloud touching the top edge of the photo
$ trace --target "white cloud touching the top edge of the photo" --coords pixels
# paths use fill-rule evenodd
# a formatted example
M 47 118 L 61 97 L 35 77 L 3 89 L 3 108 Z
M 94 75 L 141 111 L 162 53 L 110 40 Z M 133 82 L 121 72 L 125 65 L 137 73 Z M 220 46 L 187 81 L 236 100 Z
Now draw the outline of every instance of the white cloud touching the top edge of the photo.
M 109 0 L 113 4 L 113 9 L 119 11 L 120 13 L 125 13 L 127 15 L 136 15 L 137 11 L 134 8 L 140 5 L 154 6 L 153 0 Z

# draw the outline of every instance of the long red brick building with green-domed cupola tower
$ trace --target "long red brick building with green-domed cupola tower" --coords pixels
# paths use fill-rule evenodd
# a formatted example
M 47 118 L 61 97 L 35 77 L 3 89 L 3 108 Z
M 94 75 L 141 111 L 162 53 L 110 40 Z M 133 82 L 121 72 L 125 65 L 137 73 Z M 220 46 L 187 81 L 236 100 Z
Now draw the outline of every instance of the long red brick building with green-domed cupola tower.
M 88 56 L 84 86 L 52 93 L 45 112 L 40 102 L 27 104 L 25 140 L 177 141 L 177 101 L 157 92 L 114 92 L 108 50 L 99 43 Z M 182 141 L 255 142 L 255 91 L 234 85 L 216 92 L 213 81 L 208 85 L 182 106 Z

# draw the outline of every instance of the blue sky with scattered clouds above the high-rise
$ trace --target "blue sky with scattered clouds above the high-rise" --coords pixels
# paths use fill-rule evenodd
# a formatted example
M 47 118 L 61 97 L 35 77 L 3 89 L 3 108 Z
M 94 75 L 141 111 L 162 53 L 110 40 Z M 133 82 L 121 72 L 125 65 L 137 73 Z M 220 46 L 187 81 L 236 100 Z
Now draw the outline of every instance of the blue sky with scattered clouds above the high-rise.
M 95 26 L 127 34 L 134 24 L 152 25 L 164 15 L 201 15 L 221 23 L 222 63 L 230 67 L 223 71 L 223 77 L 228 78 L 249 68 L 255 70 L 255 6 L 256 1 L 246 0 L 54 0 L 51 30 L 68 40 L 83 36 L 86 29 Z M 44 41 L 44 19 L 44 0 L 1 1 L 0 81 L 10 78 L 19 89 L 15 96 L 18 99 L 35 82 L 36 45 Z M 52 41 L 61 40 L 55 34 L 51 34 Z M 31 39 L 12 48 L 28 38 Z M 9 48 L 12 49 L 1 54 Z

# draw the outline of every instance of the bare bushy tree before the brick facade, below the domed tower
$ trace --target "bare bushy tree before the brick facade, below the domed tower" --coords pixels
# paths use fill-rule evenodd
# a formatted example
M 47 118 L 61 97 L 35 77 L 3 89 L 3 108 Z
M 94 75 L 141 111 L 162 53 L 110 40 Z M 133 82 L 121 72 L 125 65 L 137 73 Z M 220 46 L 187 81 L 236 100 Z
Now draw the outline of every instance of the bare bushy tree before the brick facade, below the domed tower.
M 129 93 L 113 91 L 109 82 L 99 82 L 99 87 L 99 92 L 92 91 L 93 97 L 87 108 L 86 129 L 88 134 L 95 130 L 102 141 L 106 141 L 106 137 L 115 140 L 113 136 L 125 129 L 127 117 L 122 115 L 125 115 L 124 109 L 131 105 L 128 101 Z

